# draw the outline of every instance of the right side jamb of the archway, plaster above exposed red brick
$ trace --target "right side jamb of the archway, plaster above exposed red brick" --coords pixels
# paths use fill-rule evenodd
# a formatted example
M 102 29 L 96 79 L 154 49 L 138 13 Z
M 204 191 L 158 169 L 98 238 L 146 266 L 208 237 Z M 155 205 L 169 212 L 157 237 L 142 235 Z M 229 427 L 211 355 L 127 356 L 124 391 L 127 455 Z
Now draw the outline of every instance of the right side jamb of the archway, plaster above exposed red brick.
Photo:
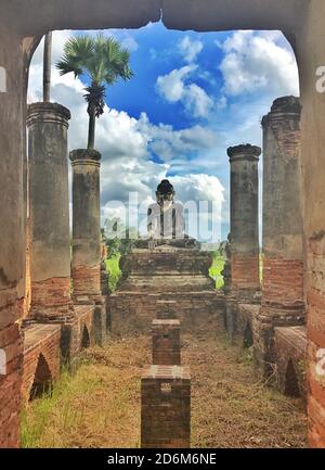
M 302 104 L 308 414 L 310 444 L 314 447 L 325 447 L 325 372 L 321 363 L 321 350 L 325 347 L 325 93 L 316 89 L 317 67 L 325 65 L 324 22 L 324 1 L 313 0 L 297 35 Z

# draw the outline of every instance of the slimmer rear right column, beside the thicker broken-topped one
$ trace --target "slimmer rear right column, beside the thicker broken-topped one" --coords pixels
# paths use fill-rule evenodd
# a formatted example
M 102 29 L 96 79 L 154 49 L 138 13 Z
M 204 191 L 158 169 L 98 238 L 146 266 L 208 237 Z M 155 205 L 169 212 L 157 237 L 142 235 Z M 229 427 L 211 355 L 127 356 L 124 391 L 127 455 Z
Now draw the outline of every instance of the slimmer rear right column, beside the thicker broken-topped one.
M 227 149 L 231 164 L 232 291 L 251 296 L 259 276 L 259 147 Z

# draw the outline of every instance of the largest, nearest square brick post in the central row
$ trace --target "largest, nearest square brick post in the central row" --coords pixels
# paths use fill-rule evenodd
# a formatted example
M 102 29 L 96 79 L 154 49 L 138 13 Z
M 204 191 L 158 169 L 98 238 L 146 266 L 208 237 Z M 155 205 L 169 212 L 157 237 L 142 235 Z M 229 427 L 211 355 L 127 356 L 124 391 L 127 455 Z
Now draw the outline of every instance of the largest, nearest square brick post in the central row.
M 190 440 L 190 370 L 151 366 L 141 379 L 141 447 L 188 448 Z

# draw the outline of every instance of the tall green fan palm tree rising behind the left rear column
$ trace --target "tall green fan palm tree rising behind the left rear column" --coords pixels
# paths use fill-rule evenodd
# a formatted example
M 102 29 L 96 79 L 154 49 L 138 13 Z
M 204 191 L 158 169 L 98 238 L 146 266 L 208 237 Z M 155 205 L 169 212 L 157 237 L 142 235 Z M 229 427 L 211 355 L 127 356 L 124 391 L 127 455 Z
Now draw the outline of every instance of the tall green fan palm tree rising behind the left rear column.
M 64 55 L 56 63 L 60 74 L 73 72 L 75 78 L 84 74 L 90 80 L 83 96 L 89 114 L 88 149 L 94 148 L 95 119 L 104 113 L 105 86 L 114 85 L 119 78 L 126 81 L 133 76 L 129 61 L 129 51 L 116 39 L 103 34 L 73 37 L 64 46 Z

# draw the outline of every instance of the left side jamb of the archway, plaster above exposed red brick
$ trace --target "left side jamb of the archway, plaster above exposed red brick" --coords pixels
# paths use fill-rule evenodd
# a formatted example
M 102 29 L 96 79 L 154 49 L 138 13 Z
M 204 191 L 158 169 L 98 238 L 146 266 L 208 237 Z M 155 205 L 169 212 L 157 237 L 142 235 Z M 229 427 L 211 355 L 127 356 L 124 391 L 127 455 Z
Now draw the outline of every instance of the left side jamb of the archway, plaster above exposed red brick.
M 22 313 L 25 284 L 22 152 L 25 90 L 21 39 L 2 21 L 0 42 L 0 65 L 6 72 L 5 92 L 0 93 L 0 447 L 17 447 L 23 343 L 15 321 Z

